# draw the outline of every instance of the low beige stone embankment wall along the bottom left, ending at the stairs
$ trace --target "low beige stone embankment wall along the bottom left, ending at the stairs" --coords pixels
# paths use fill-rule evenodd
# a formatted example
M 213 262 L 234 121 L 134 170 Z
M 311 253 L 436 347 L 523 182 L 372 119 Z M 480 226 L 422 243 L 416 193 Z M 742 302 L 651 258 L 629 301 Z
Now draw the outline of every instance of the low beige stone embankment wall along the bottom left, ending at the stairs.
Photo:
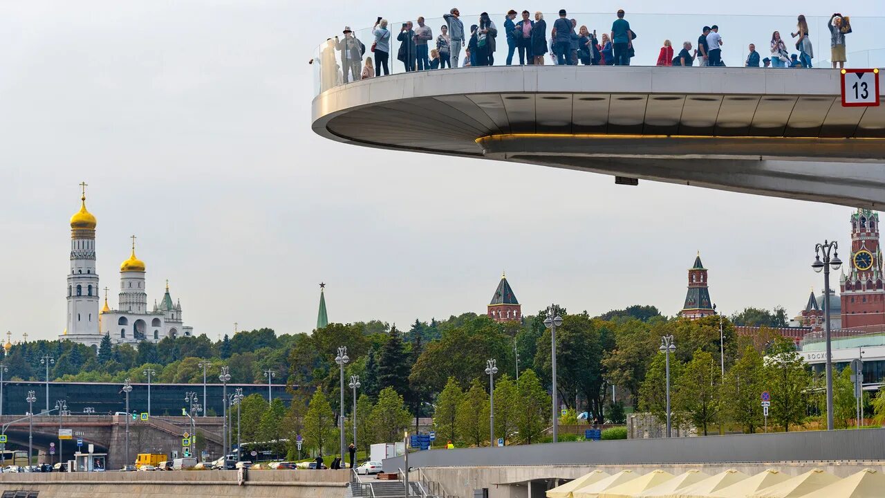
M 0 492 L 38 498 L 343 498 L 350 471 L 53 472 L 0 474 Z

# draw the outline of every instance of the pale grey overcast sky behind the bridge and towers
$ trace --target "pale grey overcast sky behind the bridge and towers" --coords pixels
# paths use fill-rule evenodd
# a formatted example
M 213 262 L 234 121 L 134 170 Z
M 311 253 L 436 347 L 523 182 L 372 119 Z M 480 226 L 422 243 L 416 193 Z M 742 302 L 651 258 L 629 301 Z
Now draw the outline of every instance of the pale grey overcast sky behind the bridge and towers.
M 420 3 L 427 12 L 416 14 L 415 4 L 0 3 L 0 333 L 50 339 L 65 328 L 68 223 L 81 182 L 111 307 L 135 234 L 149 302 L 168 278 L 185 323 L 212 339 L 234 323 L 310 332 L 320 282 L 333 322 L 407 328 L 482 313 L 502 271 L 525 314 L 556 302 L 591 315 L 634 304 L 674 315 L 698 251 L 727 314 L 783 306 L 796 315 L 809 288 L 820 291 L 814 244 L 849 243 L 849 207 L 629 188 L 606 175 L 316 136 L 313 49 L 345 25 L 439 17 L 454 6 Z M 852 1 L 843 13 L 874 15 L 876 4 Z M 573 1 L 530 10 L 560 7 L 587 10 Z M 676 14 L 684 4 L 593 5 L 618 8 Z M 828 16 L 833 6 L 803 9 Z M 758 0 L 691 10 L 712 19 L 798 13 Z M 673 35 L 682 37 L 696 35 Z

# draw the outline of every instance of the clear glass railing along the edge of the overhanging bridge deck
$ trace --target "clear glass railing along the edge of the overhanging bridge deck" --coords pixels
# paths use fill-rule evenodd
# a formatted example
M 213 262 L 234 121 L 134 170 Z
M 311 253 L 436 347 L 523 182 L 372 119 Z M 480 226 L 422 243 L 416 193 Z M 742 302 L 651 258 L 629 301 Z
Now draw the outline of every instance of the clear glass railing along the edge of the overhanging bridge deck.
M 442 9 L 447 11 L 446 8 Z M 848 13 L 850 16 L 850 12 Z M 534 19 L 535 12 L 532 12 Z M 494 52 L 494 66 L 504 66 L 508 56 L 507 36 L 504 33 L 504 14 L 492 13 L 491 20 L 498 30 Z M 576 19 L 577 28 L 586 26 L 589 32 L 596 30 L 597 39 L 602 42 L 603 33 L 609 33 L 612 21 L 616 19 L 614 13 L 587 13 L 575 12 L 568 15 L 569 19 Z M 342 18 L 344 19 L 344 18 Z M 461 22 L 465 29 L 465 45 L 470 37 L 470 27 L 479 23 L 478 15 L 462 15 Z M 518 15 L 514 21 L 519 21 Z M 558 14 L 544 12 L 543 19 L 547 24 L 546 45 L 547 53 L 544 54 L 544 64 L 552 65 L 550 56 L 550 30 L 553 22 L 558 19 Z M 635 32 L 633 42 L 635 56 L 631 58 L 631 66 L 656 66 L 658 55 L 665 40 L 669 40 L 673 46 L 673 56 L 679 54 L 684 42 L 692 44 L 691 52 L 697 49 L 697 39 L 701 35 L 704 26 L 717 25 L 720 27 L 722 36 L 722 61 L 725 66 L 744 66 L 749 53 L 750 43 L 756 44 L 759 58 L 771 58 L 771 39 L 774 31 L 779 31 L 786 43 L 789 54 L 799 55 L 796 48 L 796 38 L 790 34 L 797 31 L 797 18 L 795 16 L 749 16 L 749 15 L 670 15 L 670 14 L 631 14 L 627 12 L 626 18 L 630 27 Z M 815 68 L 829 68 L 830 59 L 830 31 L 827 27 L 829 16 L 806 16 L 810 39 L 812 40 L 813 58 L 812 66 Z M 353 37 L 346 37 L 342 32 L 330 34 L 326 42 L 321 43 L 313 53 L 311 60 L 314 93 L 319 94 L 327 89 L 332 89 L 347 82 L 358 81 L 366 70 L 366 59 L 371 59 L 372 70 L 366 75 L 375 74 L 400 74 L 405 71 L 405 64 L 397 56 L 400 54 L 400 42 L 397 37 L 402 32 L 405 22 L 412 22 L 412 29 L 418 27 L 416 19 L 411 21 L 389 21 L 387 35 L 383 31 L 376 31 L 373 27 L 362 27 L 368 23 L 374 23 L 375 19 L 344 19 L 341 27 L 350 25 L 355 27 Z M 353 23 L 353 24 L 349 24 Z M 441 27 L 447 24 L 442 17 L 427 18 L 425 25 L 430 27 L 432 39 L 427 42 L 427 52 L 436 48 L 437 37 L 441 34 Z M 846 35 L 846 48 L 848 61 L 846 67 L 879 67 L 885 66 L 885 49 L 881 49 L 885 42 L 877 39 L 877 35 L 885 32 L 885 18 L 883 17 L 850 17 L 852 33 Z M 577 30 L 577 29 L 576 29 Z M 380 35 L 384 35 L 380 39 Z M 345 41 L 346 40 L 346 41 Z M 387 51 L 387 69 L 384 71 L 382 62 L 384 54 L 378 46 L 372 51 L 373 44 L 379 41 L 383 47 L 385 43 L 389 47 Z M 343 50 L 342 50 L 343 49 Z M 410 58 L 423 55 L 423 49 L 416 48 L 417 53 L 409 53 Z M 519 51 L 513 54 L 513 64 L 519 64 Z M 464 47 L 458 53 L 458 66 L 462 66 L 466 54 Z M 453 59 L 454 57 L 452 57 Z M 422 61 L 423 62 L 423 61 Z M 416 66 L 420 64 L 416 61 Z M 695 66 L 697 66 L 695 61 Z M 378 67 L 381 66 L 381 67 Z M 460 68 L 459 68 L 460 69 Z M 467 68 L 466 70 L 469 70 Z

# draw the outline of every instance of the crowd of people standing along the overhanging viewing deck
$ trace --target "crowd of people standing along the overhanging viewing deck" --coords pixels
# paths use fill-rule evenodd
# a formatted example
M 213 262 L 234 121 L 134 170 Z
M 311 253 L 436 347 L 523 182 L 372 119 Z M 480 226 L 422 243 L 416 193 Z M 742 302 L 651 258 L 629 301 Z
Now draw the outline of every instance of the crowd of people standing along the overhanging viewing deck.
M 505 64 L 512 66 L 543 65 L 549 56 L 558 66 L 629 66 L 635 58 L 635 30 L 625 18 L 625 12 L 617 12 L 612 27 L 601 36 L 596 29 L 578 27 L 576 19 L 569 19 L 565 9 L 558 12 L 548 35 L 547 21 L 542 12 L 532 14 L 510 10 L 504 16 L 503 32 L 482 12 L 477 24 L 465 27 L 457 8 L 443 15 L 445 24 L 434 36 L 432 27 L 419 17 L 404 22 L 396 36 L 387 19 L 375 20 L 371 30 L 373 43 L 368 49 L 359 41 L 350 27 L 343 30 L 343 38 L 327 40 L 323 49 L 327 54 L 340 52 L 341 65 L 337 67 L 337 80 L 349 82 L 390 74 L 392 51 L 396 48 L 396 60 L 406 72 L 443 69 L 445 67 L 494 66 L 496 40 L 500 35 L 506 41 Z M 850 19 L 835 12 L 827 22 L 830 31 L 830 60 L 833 67 L 844 67 L 845 35 L 851 33 Z M 779 31 L 774 31 L 770 53 L 761 57 L 756 44 L 750 43 L 746 67 L 812 67 L 814 51 L 808 22 L 804 15 L 797 18 L 795 32 L 790 33 L 797 53 L 790 53 Z M 396 42 L 394 43 L 394 37 Z M 682 43 L 681 51 L 675 52 L 670 40 L 665 40 L 658 54 L 657 66 L 725 66 L 722 50 L 725 45 L 720 28 L 704 26 L 697 38 L 696 48 L 690 41 Z M 502 47 L 503 48 L 503 47 Z M 371 51 L 371 54 L 366 53 Z M 463 51 L 463 52 L 462 52 Z M 324 54 L 324 55 L 327 55 Z M 463 56 L 463 57 L 462 57 Z M 313 62 L 313 61 L 312 61 Z

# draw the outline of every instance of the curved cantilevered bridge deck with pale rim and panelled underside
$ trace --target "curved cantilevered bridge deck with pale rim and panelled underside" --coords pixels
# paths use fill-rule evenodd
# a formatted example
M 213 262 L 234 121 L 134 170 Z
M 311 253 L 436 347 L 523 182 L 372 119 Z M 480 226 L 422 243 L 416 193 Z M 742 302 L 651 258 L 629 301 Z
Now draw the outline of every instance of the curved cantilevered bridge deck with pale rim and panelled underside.
M 504 66 L 397 74 L 313 100 L 320 136 L 878 208 L 885 108 L 837 71 Z

